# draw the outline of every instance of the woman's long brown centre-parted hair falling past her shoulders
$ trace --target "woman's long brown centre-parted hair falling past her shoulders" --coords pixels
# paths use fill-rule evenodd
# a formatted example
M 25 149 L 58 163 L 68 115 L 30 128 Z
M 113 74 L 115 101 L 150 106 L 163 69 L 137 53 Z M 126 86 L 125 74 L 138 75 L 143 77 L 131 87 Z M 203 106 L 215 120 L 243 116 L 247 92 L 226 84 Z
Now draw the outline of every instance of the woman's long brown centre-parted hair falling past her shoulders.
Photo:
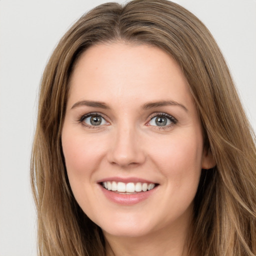
M 207 28 L 167 0 L 105 3 L 62 37 L 42 76 L 31 158 L 43 256 L 105 255 L 101 229 L 76 203 L 61 149 L 68 80 L 89 46 L 105 41 L 151 44 L 170 54 L 189 82 L 216 166 L 202 170 L 194 199 L 189 251 L 204 256 L 256 255 L 255 136 L 225 60 Z

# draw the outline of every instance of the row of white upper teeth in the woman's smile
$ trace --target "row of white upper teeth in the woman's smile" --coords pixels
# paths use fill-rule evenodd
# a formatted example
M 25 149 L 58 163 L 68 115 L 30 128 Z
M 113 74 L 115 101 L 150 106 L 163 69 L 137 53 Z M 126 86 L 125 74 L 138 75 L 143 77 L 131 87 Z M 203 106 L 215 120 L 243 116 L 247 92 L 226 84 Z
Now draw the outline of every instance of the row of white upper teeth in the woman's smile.
M 102 186 L 107 190 L 118 191 L 118 192 L 141 192 L 151 190 L 155 187 L 154 183 L 141 183 L 141 182 L 115 182 L 115 181 L 104 181 Z

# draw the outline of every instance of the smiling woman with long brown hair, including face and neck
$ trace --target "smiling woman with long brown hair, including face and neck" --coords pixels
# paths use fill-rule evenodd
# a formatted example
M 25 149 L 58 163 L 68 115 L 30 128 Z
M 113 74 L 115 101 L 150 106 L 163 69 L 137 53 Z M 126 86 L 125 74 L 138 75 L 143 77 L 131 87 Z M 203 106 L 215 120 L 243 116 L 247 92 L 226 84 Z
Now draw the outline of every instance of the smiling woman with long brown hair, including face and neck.
M 166 0 L 99 5 L 40 90 L 40 255 L 255 255 L 256 152 L 223 56 Z

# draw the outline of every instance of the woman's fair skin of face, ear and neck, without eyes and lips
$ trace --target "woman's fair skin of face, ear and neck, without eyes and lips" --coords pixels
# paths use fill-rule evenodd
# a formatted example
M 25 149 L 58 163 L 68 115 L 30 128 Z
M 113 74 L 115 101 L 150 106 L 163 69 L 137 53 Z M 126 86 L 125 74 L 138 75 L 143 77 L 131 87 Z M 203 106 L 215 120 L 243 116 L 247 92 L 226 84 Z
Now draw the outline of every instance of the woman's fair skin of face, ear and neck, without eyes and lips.
M 108 108 L 77 104 L 104 102 Z M 148 102 L 172 100 L 175 104 Z M 91 125 L 84 114 L 102 116 Z M 158 126 L 153 116 L 174 117 Z M 164 116 L 164 118 L 166 118 Z M 124 42 L 91 46 L 78 59 L 62 129 L 68 179 L 80 207 L 106 238 L 107 255 L 186 255 L 203 150 L 199 117 L 178 64 L 163 50 Z M 112 176 L 159 185 L 145 200 L 120 205 L 97 183 Z

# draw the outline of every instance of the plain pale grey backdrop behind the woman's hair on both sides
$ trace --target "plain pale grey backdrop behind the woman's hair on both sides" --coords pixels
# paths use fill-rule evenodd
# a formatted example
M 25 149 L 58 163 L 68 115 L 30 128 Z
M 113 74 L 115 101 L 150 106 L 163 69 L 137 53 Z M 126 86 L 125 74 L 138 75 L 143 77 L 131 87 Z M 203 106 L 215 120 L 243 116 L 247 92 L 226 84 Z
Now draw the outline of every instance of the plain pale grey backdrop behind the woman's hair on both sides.
M 40 77 L 67 28 L 103 2 L 0 0 L 0 256 L 36 255 L 29 159 Z M 175 2 L 212 32 L 255 130 L 256 0 Z

